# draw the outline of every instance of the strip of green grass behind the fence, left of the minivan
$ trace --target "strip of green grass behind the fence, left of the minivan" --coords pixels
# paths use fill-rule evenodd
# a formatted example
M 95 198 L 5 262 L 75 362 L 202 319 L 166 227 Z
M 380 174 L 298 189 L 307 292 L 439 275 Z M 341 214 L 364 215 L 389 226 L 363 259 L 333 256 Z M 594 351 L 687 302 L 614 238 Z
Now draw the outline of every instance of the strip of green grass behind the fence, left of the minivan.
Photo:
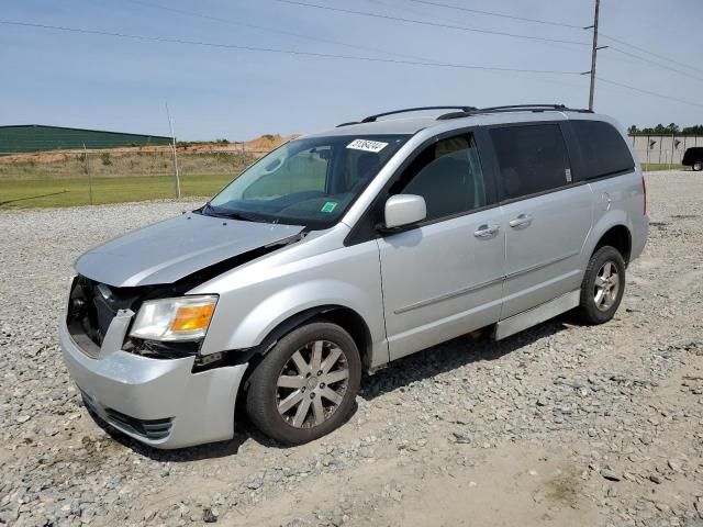
M 232 173 L 182 175 L 181 195 L 213 195 Z M 124 203 L 176 197 L 172 176 L 92 178 L 92 202 Z M 18 201 L 19 200 L 19 201 Z M 0 209 L 76 206 L 90 204 L 88 178 L 0 179 Z

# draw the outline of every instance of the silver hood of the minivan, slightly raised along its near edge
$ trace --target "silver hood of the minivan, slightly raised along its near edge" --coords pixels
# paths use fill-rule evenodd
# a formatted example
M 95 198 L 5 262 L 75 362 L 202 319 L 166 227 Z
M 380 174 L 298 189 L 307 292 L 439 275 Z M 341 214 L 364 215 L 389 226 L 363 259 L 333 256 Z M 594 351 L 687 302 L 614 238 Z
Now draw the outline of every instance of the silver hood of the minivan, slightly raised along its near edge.
M 76 270 L 116 288 L 172 283 L 205 267 L 295 236 L 303 228 L 183 214 L 89 250 L 78 258 Z

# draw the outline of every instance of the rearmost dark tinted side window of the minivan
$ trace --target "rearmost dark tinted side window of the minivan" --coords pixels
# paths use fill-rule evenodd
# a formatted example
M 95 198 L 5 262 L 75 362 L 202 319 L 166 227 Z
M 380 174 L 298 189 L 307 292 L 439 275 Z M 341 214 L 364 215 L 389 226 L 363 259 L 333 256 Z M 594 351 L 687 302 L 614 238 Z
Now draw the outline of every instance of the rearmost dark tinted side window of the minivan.
M 571 121 L 583 156 L 583 179 L 602 178 L 635 168 L 627 144 L 617 130 L 601 121 Z

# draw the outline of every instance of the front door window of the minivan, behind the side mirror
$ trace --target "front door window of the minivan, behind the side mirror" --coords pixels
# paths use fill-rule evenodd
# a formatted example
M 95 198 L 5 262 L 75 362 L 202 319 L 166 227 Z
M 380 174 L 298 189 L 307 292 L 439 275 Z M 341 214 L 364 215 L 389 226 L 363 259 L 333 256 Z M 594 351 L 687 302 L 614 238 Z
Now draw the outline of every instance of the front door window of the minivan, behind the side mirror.
M 425 148 L 391 188 L 391 194 L 425 199 L 427 220 L 488 204 L 486 182 L 473 136 L 438 141 Z

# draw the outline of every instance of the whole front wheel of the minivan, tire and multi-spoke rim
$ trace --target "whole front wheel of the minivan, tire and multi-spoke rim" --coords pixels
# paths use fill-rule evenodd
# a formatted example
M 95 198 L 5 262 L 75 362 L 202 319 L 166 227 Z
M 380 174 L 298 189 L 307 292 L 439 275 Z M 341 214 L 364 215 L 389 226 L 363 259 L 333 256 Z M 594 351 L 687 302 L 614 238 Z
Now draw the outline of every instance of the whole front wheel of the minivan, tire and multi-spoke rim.
M 254 425 L 288 445 L 317 439 L 354 407 L 361 359 L 342 327 L 319 322 L 279 340 L 249 379 L 246 408 Z

